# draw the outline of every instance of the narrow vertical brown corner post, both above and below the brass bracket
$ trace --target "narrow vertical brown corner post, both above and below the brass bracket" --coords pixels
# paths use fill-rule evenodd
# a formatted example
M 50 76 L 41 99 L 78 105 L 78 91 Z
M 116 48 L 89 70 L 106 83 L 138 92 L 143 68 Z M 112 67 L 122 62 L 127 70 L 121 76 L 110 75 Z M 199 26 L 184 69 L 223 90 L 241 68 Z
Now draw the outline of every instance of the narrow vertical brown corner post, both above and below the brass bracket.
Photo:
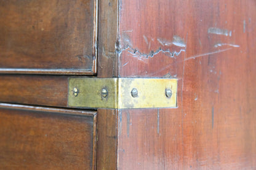
M 97 77 L 118 77 L 119 1 L 99 1 Z M 118 110 L 97 110 L 97 169 L 117 169 Z

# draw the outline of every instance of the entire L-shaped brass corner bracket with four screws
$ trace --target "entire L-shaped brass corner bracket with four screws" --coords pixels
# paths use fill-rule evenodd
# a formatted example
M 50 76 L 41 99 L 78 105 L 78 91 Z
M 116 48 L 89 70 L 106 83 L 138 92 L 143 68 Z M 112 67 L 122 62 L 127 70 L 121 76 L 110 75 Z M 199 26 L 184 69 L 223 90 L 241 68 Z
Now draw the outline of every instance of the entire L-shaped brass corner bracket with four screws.
M 111 109 L 177 107 L 177 79 L 70 78 L 68 106 Z

